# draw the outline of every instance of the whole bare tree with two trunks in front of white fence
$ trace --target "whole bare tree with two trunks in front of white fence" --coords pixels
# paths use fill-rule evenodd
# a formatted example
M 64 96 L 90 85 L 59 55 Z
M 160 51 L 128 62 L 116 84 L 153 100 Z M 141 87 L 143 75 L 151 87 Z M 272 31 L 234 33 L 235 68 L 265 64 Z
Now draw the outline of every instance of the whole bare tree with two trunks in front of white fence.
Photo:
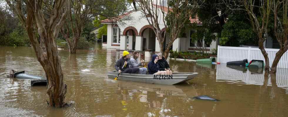
M 287 2 L 288 0 L 241 0 L 230 1 L 235 3 L 237 8 L 234 10 L 247 11 L 252 25 L 252 29 L 259 39 L 258 45 L 265 59 L 265 72 L 276 73 L 276 68 L 282 55 L 288 49 L 288 21 L 287 21 Z M 233 7 L 235 7 L 233 6 Z M 230 6 L 228 6 L 230 7 Z M 279 12 L 280 10 L 280 12 Z M 281 11 L 282 10 L 282 11 Z M 273 12 L 273 14 L 272 14 Z M 285 14 L 286 13 L 286 14 Z M 272 15 L 271 15 L 272 14 Z M 269 17 L 274 16 L 274 36 L 279 42 L 280 49 L 276 53 L 272 63 L 271 71 L 269 58 L 263 43 L 268 36 L 268 25 L 271 23 Z

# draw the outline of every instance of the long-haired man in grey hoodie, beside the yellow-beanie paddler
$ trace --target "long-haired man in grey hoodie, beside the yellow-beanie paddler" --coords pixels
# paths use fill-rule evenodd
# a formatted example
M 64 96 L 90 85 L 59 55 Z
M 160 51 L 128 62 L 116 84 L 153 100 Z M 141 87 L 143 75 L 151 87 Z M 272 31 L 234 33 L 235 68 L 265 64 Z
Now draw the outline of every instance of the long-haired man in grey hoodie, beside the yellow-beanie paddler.
M 138 62 L 138 57 L 140 56 L 140 52 L 139 51 L 134 51 L 132 56 L 130 57 L 130 62 L 131 64 L 129 65 L 130 68 L 135 68 L 135 67 L 140 67 L 142 65 L 144 65 L 144 60 L 141 60 L 141 62 Z M 139 68 L 139 74 L 146 74 L 147 72 L 147 68 L 143 67 L 143 68 Z

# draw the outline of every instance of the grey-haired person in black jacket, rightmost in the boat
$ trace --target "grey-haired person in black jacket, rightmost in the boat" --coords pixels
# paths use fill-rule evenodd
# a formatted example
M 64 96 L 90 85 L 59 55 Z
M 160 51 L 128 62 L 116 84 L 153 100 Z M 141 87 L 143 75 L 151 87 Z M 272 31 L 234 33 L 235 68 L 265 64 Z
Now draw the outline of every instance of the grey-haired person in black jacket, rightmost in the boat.
M 172 75 L 172 71 L 170 70 L 170 66 L 168 62 L 165 60 L 164 56 L 161 53 L 158 53 L 157 56 L 159 57 L 157 64 L 159 66 L 160 71 L 166 71 L 168 75 Z

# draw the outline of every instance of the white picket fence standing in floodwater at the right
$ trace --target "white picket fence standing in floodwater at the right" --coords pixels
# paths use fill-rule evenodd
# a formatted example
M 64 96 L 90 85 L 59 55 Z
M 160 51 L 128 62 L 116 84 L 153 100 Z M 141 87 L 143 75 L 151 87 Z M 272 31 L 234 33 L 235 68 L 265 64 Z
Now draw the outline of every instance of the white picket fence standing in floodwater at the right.
M 272 66 L 275 55 L 279 49 L 265 49 L 269 57 L 269 65 Z M 229 61 L 241 61 L 243 59 L 263 60 L 265 59 L 259 48 L 252 47 L 226 47 L 218 46 L 217 62 L 227 63 Z M 286 51 L 278 62 L 277 68 L 288 68 L 288 51 Z

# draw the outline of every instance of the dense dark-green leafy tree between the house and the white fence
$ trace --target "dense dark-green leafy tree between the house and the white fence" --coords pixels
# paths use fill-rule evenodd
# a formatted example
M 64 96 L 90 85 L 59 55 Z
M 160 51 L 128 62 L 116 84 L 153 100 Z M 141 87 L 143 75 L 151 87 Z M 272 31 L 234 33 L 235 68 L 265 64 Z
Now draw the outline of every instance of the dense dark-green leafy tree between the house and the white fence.
M 197 4 L 201 5 L 197 8 L 197 18 L 202 25 L 197 26 L 198 22 L 193 23 L 191 27 L 196 33 L 190 36 L 192 42 L 197 43 L 195 47 L 204 53 L 206 47 L 212 41 L 216 41 L 217 37 L 221 37 L 221 31 L 223 30 L 223 25 L 225 25 L 229 10 L 227 10 L 222 0 L 199 0 Z

